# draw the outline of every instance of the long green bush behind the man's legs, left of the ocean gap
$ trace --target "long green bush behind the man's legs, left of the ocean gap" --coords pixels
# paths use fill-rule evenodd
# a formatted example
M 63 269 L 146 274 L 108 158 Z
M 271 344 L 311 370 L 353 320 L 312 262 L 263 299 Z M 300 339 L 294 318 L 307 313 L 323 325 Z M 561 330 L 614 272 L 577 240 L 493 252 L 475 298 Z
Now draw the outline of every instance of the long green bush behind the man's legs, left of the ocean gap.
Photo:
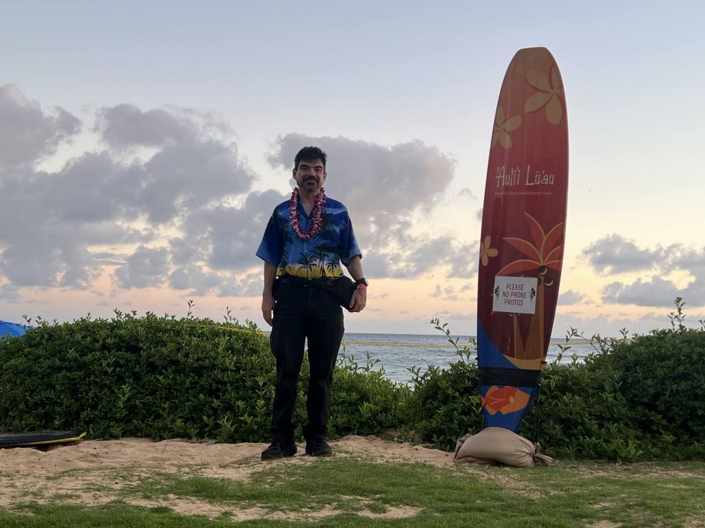
M 0 430 L 82 429 L 89 438 L 269 439 L 275 362 L 250 324 L 144 318 L 40 322 L 0 342 Z M 350 365 L 349 365 L 350 366 Z M 295 419 L 305 417 L 307 364 Z M 331 436 L 393 427 L 396 385 L 337 368 Z

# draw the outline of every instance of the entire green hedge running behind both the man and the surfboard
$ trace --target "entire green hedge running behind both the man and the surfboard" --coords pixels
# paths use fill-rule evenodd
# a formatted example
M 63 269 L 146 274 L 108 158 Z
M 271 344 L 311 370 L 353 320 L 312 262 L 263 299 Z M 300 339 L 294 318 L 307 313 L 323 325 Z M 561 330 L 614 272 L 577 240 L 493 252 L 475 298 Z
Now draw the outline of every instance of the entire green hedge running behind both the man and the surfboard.
M 680 327 L 615 342 L 584 363 L 548 365 L 539 440 L 572 458 L 705 456 L 705 332 Z M 461 355 L 462 356 L 462 355 Z M 266 441 L 274 358 L 250 324 L 117 313 L 40 322 L 0 340 L 0 431 L 84 429 L 90 438 L 143 436 Z M 367 358 L 336 367 L 329 433 L 396 429 L 453 449 L 482 429 L 477 364 L 415 370 L 395 384 Z M 305 420 L 302 368 L 295 420 Z M 520 433 L 532 438 L 533 413 Z M 299 432 L 300 434 L 300 432 Z

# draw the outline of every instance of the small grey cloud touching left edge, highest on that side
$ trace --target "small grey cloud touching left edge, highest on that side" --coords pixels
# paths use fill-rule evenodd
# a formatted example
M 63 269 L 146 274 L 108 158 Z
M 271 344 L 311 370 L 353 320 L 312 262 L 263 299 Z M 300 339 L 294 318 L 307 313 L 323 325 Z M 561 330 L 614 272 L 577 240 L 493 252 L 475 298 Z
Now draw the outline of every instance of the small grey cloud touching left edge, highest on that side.
M 0 87 L 0 170 L 37 161 L 79 130 L 80 120 L 63 108 L 44 113 L 15 84 Z

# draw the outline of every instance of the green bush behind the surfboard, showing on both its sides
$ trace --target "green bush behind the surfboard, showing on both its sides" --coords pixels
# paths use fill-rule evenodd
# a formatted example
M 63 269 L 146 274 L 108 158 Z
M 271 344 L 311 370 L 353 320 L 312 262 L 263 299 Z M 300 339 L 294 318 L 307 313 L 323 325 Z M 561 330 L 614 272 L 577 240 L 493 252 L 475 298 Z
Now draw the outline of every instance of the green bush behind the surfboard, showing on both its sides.
M 656 330 L 601 348 L 584 363 L 547 365 L 541 375 L 544 452 L 608 460 L 705 456 L 705 332 Z M 431 367 L 414 384 L 404 418 L 420 441 L 451 450 L 458 437 L 482 430 L 474 360 Z M 535 410 L 520 428 L 529 439 Z

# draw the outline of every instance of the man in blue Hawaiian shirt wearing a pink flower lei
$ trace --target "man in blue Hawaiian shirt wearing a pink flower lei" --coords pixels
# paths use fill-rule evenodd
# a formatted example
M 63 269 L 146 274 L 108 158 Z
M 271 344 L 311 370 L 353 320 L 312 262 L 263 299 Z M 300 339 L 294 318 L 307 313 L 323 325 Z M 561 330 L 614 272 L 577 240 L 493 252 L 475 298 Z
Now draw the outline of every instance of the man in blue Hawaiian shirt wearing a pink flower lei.
M 262 460 L 296 453 L 292 416 L 306 339 L 310 365 L 306 454 L 333 453 L 326 443 L 326 423 L 333 367 L 343 340 L 341 304 L 360 312 L 367 303 L 362 252 L 348 210 L 327 197 L 323 188 L 326 153 L 316 146 L 301 149 L 292 172 L 298 187 L 290 201 L 274 209 L 257 249 L 257 256 L 264 260 L 262 315 L 272 327 L 269 340 L 276 358 L 272 441 L 262 452 Z M 341 263 L 357 284 L 352 298 L 349 293 L 339 295 L 346 281 L 352 286 L 343 277 Z

